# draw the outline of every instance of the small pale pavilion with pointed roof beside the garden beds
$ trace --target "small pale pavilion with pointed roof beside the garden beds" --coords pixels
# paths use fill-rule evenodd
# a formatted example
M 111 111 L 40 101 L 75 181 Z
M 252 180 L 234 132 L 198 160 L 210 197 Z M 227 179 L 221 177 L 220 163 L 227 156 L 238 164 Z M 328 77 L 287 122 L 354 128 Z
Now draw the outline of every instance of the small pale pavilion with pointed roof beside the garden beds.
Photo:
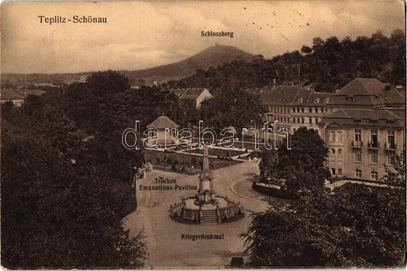
M 171 130 L 172 128 L 178 129 L 180 127 L 177 123 L 173 122 L 170 118 L 166 116 L 158 117 L 150 125 L 147 126 L 149 129 L 155 129 L 157 132 L 157 144 L 176 144 L 178 141 L 178 136 L 176 131 Z M 169 131 L 165 129 L 168 128 Z M 156 134 L 153 131 L 150 131 L 148 134 L 149 138 L 155 137 Z M 155 139 L 147 142 L 147 145 L 155 145 Z

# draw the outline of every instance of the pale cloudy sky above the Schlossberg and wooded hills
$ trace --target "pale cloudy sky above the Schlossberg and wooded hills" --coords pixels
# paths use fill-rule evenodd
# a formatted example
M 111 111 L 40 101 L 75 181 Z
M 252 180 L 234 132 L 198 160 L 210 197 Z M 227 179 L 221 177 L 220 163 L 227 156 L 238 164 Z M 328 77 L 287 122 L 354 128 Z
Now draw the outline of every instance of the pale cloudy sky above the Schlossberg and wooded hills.
M 106 17 L 107 23 L 40 23 L 38 16 Z M 266 58 L 381 30 L 404 31 L 403 1 L 186 1 L 3 3 L 2 73 L 137 70 L 186 59 L 215 45 Z M 201 37 L 201 31 L 234 37 Z

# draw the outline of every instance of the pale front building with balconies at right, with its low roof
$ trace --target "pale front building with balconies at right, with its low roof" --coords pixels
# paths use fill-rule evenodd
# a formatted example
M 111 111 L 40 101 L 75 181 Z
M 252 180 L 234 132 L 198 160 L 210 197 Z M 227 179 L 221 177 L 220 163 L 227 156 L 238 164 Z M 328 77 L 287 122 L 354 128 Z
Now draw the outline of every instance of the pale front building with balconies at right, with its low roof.
M 404 113 L 340 109 L 318 123 L 333 177 L 379 180 L 405 142 Z

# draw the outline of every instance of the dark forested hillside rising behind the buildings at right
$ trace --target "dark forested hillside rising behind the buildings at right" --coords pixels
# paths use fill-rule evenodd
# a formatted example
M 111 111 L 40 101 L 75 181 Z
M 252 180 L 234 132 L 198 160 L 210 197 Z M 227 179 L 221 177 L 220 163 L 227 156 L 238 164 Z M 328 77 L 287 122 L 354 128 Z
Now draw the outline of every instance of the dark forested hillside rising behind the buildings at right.
M 193 75 L 170 81 L 171 88 L 221 88 L 232 82 L 245 88 L 277 84 L 312 84 L 316 91 L 334 92 L 356 77 L 377 78 L 391 84 L 405 82 L 405 34 L 395 30 L 390 37 L 377 31 L 370 38 L 336 37 L 313 39 L 312 47 L 265 59 L 235 60 Z

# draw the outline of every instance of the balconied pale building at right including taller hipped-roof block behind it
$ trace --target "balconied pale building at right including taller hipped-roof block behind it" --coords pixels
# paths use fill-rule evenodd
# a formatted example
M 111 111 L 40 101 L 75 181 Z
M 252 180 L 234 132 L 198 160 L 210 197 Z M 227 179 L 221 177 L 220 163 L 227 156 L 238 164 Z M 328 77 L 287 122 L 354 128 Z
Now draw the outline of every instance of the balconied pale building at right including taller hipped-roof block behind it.
M 405 149 L 405 93 L 374 78 L 356 78 L 332 96 L 318 123 L 333 177 L 380 180 Z

